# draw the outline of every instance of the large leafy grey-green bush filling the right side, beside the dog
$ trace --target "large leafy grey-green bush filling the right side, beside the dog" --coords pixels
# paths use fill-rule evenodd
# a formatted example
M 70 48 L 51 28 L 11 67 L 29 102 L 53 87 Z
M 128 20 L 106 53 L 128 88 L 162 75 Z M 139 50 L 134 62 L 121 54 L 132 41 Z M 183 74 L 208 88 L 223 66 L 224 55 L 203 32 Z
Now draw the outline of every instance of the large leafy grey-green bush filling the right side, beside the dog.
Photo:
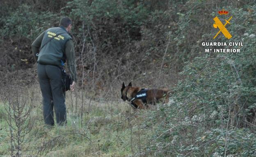
M 196 51 L 193 50 L 193 54 L 188 56 L 198 54 L 185 63 L 180 73 L 184 79 L 178 82 L 169 104 L 161 105 L 157 112 L 147 115 L 150 119 L 155 119 L 153 124 L 157 128 L 150 144 L 145 146 L 147 150 L 154 152 L 153 156 L 256 155 L 256 21 L 253 20 L 256 13 L 250 9 L 255 10 L 255 6 L 248 6 L 248 9 L 228 9 L 236 16 L 228 27 L 233 34 L 228 42 L 243 42 L 244 45 L 229 48 L 240 49 L 240 53 L 209 54 L 204 53 L 206 47 L 185 44 L 196 40 L 200 44 L 209 41 L 210 39 L 206 39 L 214 36 L 209 30 L 199 32 L 202 35 L 196 39 L 178 41 L 183 44 L 184 52 L 188 52 L 187 48 L 195 48 Z M 248 22 L 248 19 L 251 20 Z M 190 24 L 187 26 L 178 27 L 178 36 L 188 34 L 185 28 L 198 24 L 196 19 L 188 21 Z M 247 29 L 240 29 L 241 27 Z M 181 28 L 184 28 L 183 31 Z M 227 42 L 224 38 L 219 40 Z

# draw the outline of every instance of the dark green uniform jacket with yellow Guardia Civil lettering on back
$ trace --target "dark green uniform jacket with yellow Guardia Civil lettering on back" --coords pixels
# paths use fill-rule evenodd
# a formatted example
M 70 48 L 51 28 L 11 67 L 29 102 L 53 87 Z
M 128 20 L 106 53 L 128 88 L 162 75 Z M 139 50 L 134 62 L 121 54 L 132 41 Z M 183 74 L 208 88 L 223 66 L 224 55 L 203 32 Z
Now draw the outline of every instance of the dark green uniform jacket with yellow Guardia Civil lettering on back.
M 54 39 L 48 42 L 51 38 Z M 43 33 L 34 40 L 32 43 L 32 52 L 34 58 L 41 64 L 62 65 L 62 61 L 67 61 L 71 77 L 77 82 L 75 53 L 71 39 L 71 36 L 64 27 L 50 28 L 43 31 Z M 41 48 L 40 53 L 39 48 Z M 38 56 L 37 53 L 39 53 Z

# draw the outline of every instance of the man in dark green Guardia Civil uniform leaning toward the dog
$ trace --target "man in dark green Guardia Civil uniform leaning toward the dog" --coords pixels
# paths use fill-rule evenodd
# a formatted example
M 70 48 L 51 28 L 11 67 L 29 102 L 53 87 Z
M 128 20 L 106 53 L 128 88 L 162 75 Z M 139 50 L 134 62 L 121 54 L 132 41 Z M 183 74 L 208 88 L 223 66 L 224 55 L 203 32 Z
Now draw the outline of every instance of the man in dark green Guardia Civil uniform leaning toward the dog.
M 69 35 L 72 22 L 62 18 L 59 27 L 43 31 L 32 43 L 32 52 L 37 60 L 37 75 L 43 96 L 43 118 L 47 125 L 54 125 L 53 107 L 58 125 L 66 124 L 65 91 L 62 90 L 61 66 L 67 61 L 75 89 L 76 64 L 72 38 Z

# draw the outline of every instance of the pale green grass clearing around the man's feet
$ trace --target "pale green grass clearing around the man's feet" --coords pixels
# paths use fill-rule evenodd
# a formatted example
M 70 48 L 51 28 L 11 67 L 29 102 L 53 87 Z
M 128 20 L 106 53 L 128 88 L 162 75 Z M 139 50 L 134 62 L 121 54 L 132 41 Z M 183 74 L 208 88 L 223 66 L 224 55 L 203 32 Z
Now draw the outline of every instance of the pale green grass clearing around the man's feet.
M 144 111 L 135 113 L 127 103 L 118 99 L 111 102 L 85 99 L 81 110 L 82 99 L 79 92 L 78 95 L 71 95 L 70 92 L 66 95 L 67 125 L 48 128 L 43 124 L 41 93 L 38 88 L 37 91 L 38 95 L 33 95 L 36 99 L 31 111 L 32 129 L 21 144 L 22 155 L 126 157 L 142 150 L 142 145 L 151 136 L 151 128 L 141 127 L 144 123 Z M 77 112 L 74 109 L 75 102 Z M 9 157 L 10 152 L 10 133 L 6 118 L 5 106 L 0 103 L 0 156 L 3 157 Z

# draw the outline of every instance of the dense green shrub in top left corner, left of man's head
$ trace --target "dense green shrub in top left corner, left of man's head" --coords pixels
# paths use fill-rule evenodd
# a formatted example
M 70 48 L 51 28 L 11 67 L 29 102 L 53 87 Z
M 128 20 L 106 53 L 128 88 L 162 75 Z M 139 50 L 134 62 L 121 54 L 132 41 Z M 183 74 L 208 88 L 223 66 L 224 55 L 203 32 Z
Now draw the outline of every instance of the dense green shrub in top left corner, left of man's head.
M 26 38 L 34 40 L 41 32 L 48 27 L 52 27 L 59 21 L 57 14 L 46 12 L 32 12 L 32 7 L 23 4 L 14 10 L 11 15 L 1 18 L 0 23 L 4 26 L 0 29 L 0 34 L 5 38 Z

